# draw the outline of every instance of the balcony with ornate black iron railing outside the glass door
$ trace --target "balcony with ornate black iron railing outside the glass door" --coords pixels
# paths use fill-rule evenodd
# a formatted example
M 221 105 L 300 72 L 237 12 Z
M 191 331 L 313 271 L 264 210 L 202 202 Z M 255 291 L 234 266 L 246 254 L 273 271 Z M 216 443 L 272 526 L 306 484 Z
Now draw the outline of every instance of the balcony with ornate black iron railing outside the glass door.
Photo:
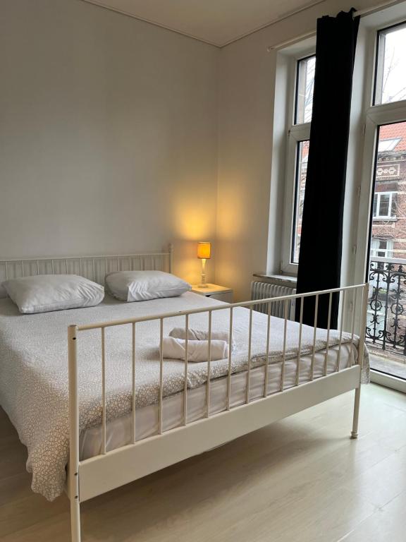
M 366 342 L 371 368 L 406 379 L 406 260 L 371 258 Z

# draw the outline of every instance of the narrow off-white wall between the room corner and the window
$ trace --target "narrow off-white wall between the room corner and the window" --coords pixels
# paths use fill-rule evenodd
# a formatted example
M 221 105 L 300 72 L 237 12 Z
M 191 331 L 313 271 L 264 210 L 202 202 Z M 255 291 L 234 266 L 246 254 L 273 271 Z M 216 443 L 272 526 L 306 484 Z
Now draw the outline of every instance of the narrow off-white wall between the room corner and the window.
M 359 0 L 357 8 L 379 3 Z M 278 104 L 273 111 L 276 51 L 267 47 L 351 7 L 351 1 L 326 0 L 221 49 L 216 282 L 233 286 L 236 299 L 248 299 L 252 272 L 280 270 L 283 187 L 271 149 L 274 115 L 284 112 Z

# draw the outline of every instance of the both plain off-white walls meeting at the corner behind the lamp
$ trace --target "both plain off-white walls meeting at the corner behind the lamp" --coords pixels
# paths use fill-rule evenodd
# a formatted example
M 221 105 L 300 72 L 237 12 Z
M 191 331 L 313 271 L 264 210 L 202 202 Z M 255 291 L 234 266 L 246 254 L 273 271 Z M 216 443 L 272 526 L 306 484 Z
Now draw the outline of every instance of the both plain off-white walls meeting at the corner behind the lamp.
M 80 0 L 1 0 L 0 258 L 175 241 L 176 272 L 196 282 L 209 239 L 209 280 L 247 299 L 252 272 L 281 260 L 284 112 L 266 49 L 351 6 L 326 0 L 216 49 Z

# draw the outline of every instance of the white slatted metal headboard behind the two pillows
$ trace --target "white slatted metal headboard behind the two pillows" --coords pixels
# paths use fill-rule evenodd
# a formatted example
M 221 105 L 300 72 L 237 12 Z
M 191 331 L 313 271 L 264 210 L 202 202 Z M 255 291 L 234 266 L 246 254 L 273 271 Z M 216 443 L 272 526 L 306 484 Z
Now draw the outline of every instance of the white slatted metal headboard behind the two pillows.
M 158 270 L 173 272 L 173 246 L 164 252 L 109 256 L 68 256 L 0 260 L 0 298 L 6 297 L 1 282 L 30 275 L 80 275 L 104 286 L 113 271 Z

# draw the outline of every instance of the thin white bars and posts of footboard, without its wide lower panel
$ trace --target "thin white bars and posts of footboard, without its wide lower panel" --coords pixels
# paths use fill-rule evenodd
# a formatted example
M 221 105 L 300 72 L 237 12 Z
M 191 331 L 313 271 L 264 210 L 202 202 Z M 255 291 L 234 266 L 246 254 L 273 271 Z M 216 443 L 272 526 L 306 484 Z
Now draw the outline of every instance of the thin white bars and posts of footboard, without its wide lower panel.
M 352 308 L 352 317 L 350 322 L 350 330 L 348 332 L 351 335 L 350 339 L 350 367 L 355 364 L 354 354 L 353 354 L 353 343 L 355 337 L 355 325 L 357 320 L 357 306 L 359 306 L 359 339 L 358 339 L 358 355 L 357 355 L 357 364 L 362 369 L 363 357 L 364 357 L 364 337 L 365 337 L 365 321 L 367 317 L 367 301 L 368 301 L 368 284 L 357 284 L 355 286 L 341 287 L 335 289 L 328 289 L 322 291 L 309 292 L 305 294 L 293 294 L 288 296 L 281 296 L 278 298 L 270 298 L 262 300 L 263 304 L 268 305 L 269 310 L 267 314 L 267 328 L 266 328 L 266 347 L 265 347 L 265 363 L 264 363 L 264 390 L 263 398 L 269 397 L 268 393 L 268 384 L 269 384 L 269 344 L 271 337 L 271 303 L 280 301 L 283 303 L 283 351 L 281 352 L 281 380 L 280 380 L 280 392 L 285 391 L 285 364 L 286 364 L 286 344 L 287 344 L 287 333 L 288 333 L 288 316 L 289 316 L 289 306 L 292 300 L 297 300 L 296 303 L 300 303 L 299 310 L 299 332 L 298 332 L 298 351 L 297 351 L 297 367 L 295 374 L 295 387 L 301 387 L 300 384 L 300 361 L 301 361 L 301 349 L 302 349 L 302 316 L 303 316 L 303 305 L 305 299 L 310 296 L 313 296 L 315 299 L 314 303 L 314 332 L 313 332 L 313 344 L 311 356 L 311 365 L 310 365 L 310 381 L 314 380 L 314 365 L 315 365 L 315 356 L 316 356 L 316 336 L 317 336 L 317 321 L 318 321 L 318 308 L 319 308 L 319 299 L 320 296 L 328 296 L 328 327 L 326 330 L 326 352 L 324 358 L 324 377 L 328 376 L 331 373 L 328 373 L 328 350 L 329 350 L 329 339 L 331 333 L 331 306 L 332 306 L 332 297 L 333 294 L 338 294 L 340 296 L 340 329 L 339 339 L 338 339 L 338 356 L 335 372 L 340 371 L 340 358 L 342 351 L 342 342 L 343 342 L 343 324 L 344 324 L 344 313 L 346 308 L 346 303 L 349 301 Z M 359 299 L 360 298 L 360 299 Z M 80 457 L 79 457 L 79 400 L 78 400 L 78 354 L 77 346 L 78 339 L 82 333 L 85 333 L 89 330 L 100 330 L 100 340 L 101 340 L 101 456 L 110 454 L 106 450 L 106 348 L 105 348 L 105 330 L 108 327 L 121 326 L 121 325 L 130 325 L 132 333 L 132 412 L 131 412 L 131 424 L 132 424 L 132 440 L 131 445 L 137 446 L 140 445 L 140 442 L 144 442 L 149 439 L 156 438 L 149 437 L 143 440 L 136 440 L 135 438 L 135 396 L 136 396 L 136 339 L 137 339 L 137 324 L 158 320 L 159 321 L 159 435 L 163 433 L 170 433 L 173 429 L 164 431 L 163 428 L 163 403 L 164 403 L 164 356 L 163 356 L 163 340 L 164 340 L 164 320 L 166 318 L 173 317 L 183 317 L 185 319 L 185 368 L 184 368 L 184 383 L 183 383 L 183 426 L 187 427 L 192 425 L 195 422 L 188 422 L 187 420 L 187 368 L 188 368 L 188 355 L 189 355 L 189 323 L 190 315 L 195 315 L 199 313 L 207 313 L 207 326 L 208 326 L 208 341 L 207 341 L 207 382 L 206 382 L 206 409 L 205 417 L 212 418 L 218 416 L 218 414 L 210 414 L 210 375 L 211 375 L 211 340 L 213 332 L 212 317 L 213 313 L 216 311 L 228 310 L 230 312 L 229 318 L 229 343 L 228 343 L 228 371 L 226 374 L 227 378 L 227 387 L 226 387 L 226 411 L 234 410 L 235 407 L 230 405 L 231 398 L 231 376 L 232 372 L 232 361 L 233 361 L 233 314 L 235 308 L 247 308 L 250 311 L 249 321 L 248 321 L 248 344 L 247 344 L 247 371 L 246 371 L 246 394 L 245 394 L 245 404 L 252 404 L 250 402 L 250 385 L 251 385 L 251 371 L 252 371 L 252 315 L 254 311 L 254 306 L 257 304 L 257 301 L 244 301 L 241 303 L 230 303 L 227 306 L 219 305 L 212 306 L 210 308 L 199 308 L 191 309 L 187 311 L 177 311 L 171 313 L 161 313 L 156 315 L 149 315 L 140 318 L 128 318 L 125 320 L 112 320 L 101 323 L 94 323 L 89 325 L 70 325 L 68 327 L 68 363 L 69 363 L 69 405 L 70 405 L 70 462 L 69 462 L 69 493 L 71 500 L 71 516 L 72 516 L 72 533 L 73 541 L 80 541 L 80 521 L 79 521 L 79 502 L 80 502 L 80 488 L 79 488 L 79 466 L 80 466 Z M 359 371 L 359 374 L 361 371 Z M 354 421 L 352 427 L 352 438 L 357 438 L 357 424 L 359 416 L 359 392 L 360 387 L 357 387 L 355 390 L 355 411 L 354 411 Z M 275 395 L 275 394 L 272 394 Z M 255 402 L 255 401 L 254 401 Z M 176 428 L 178 429 L 178 428 Z M 158 438 L 159 438 L 158 435 Z M 95 458 L 97 459 L 97 457 Z

